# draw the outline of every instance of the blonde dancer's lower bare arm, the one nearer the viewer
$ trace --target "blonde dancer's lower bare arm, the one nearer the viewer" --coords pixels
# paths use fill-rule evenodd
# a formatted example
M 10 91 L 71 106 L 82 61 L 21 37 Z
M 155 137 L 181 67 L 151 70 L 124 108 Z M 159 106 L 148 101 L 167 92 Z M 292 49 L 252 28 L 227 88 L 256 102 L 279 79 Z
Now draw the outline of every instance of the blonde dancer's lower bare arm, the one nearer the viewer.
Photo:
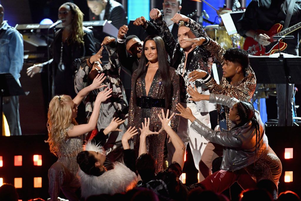
M 101 102 L 104 102 L 105 100 L 110 98 L 111 93 L 112 89 L 108 90 L 108 88 L 98 93 L 89 123 L 74 126 L 73 129 L 67 133 L 69 137 L 76 137 L 95 129 L 99 116 L 100 104 Z

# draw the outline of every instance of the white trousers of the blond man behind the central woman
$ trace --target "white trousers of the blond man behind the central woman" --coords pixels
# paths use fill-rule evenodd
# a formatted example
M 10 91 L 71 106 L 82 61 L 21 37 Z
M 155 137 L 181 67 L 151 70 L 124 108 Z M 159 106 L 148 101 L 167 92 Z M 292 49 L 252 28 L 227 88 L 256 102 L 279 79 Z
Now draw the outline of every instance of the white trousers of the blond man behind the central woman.
M 211 128 L 210 123 L 210 116 L 209 112 L 198 112 L 196 105 L 194 103 L 181 103 L 184 107 L 187 105 L 192 111 L 192 114 L 200 120 L 203 124 Z M 205 113 L 205 114 L 204 114 Z M 191 127 L 191 122 L 185 118 L 180 117 L 179 127 L 178 131 L 176 132 L 178 136 L 181 138 L 182 142 L 184 143 L 185 147 L 187 146 L 188 142 L 190 145 L 190 149 L 192 152 L 194 165 L 199 170 L 199 162 L 201 159 L 201 156 L 203 154 L 203 151 L 206 147 L 206 144 L 208 143 L 208 140 L 206 140 L 203 136 L 201 136 L 199 133 L 195 132 Z M 172 143 L 167 144 L 167 150 L 168 150 L 168 164 L 170 165 L 172 162 L 172 156 L 175 152 L 175 148 L 172 145 Z

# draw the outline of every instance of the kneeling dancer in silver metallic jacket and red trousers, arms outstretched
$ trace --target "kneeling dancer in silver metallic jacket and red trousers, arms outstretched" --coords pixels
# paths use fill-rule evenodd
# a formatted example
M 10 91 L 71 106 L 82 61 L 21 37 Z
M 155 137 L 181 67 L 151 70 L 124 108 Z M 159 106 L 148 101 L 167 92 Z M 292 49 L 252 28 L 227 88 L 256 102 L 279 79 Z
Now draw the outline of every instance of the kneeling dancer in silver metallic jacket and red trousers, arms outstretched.
M 251 103 L 225 95 L 198 94 L 198 97 L 228 106 L 229 119 L 235 124 L 229 131 L 214 131 L 196 119 L 190 108 L 185 109 L 181 104 L 177 105 L 180 115 L 192 122 L 191 128 L 211 142 L 223 146 L 221 170 L 208 176 L 199 185 L 221 193 L 235 181 L 243 189 L 247 189 L 256 187 L 256 182 L 268 179 L 275 184 L 273 196 L 277 198 L 282 165 L 268 146 L 268 138 L 259 112 L 254 110 Z

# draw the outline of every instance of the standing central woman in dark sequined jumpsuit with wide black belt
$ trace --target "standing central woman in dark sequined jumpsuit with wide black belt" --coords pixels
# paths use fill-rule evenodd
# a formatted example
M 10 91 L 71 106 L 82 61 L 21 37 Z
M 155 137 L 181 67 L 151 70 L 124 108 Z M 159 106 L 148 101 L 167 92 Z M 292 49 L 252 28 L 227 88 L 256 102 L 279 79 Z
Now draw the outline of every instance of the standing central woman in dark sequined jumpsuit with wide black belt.
M 167 62 L 163 39 L 148 36 L 143 44 L 139 67 L 132 75 L 132 91 L 129 104 L 128 126 L 141 127 L 144 118 L 150 118 L 150 130 L 159 131 L 161 121 L 158 114 L 163 108 L 176 112 L 175 105 L 180 102 L 179 76 Z M 170 127 L 178 129 L 179 117 L 174 116 Z M 147 137 L 147 152 L 157 160 L 156 172 L 163 170 L 163 150 L 166 132 Z M 139 150 L 139 135 L 134 136 L 136 156 Z

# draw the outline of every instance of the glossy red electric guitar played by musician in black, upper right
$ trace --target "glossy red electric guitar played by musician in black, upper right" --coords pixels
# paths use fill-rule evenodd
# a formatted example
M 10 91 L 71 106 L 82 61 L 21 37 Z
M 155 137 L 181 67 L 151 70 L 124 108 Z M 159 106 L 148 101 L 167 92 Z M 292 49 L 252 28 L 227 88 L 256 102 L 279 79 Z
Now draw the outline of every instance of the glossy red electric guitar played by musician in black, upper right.
M 254 56 L 263 56 L 263 55 L 271 55 L 275 52 L 278 52 L 278 40 L 274 40 L 273 36 L 286 36 L 289 33 L 301 28 L 301 22 L 287 28 L 286 30 L 281 31 L 281 24 L 275 24 L 269 31 L 257 30 L 257 33 L 266 34 L 270 37 L 269 41 L 271 42 L 267 46 L 263 46 L 255 41 L 252 37 L 247 37 L 244 42 L 244 50 L 246 50 L 250 55 Z M 282 39 L 279 40 L 279 48 L 280 51 L 286 49 L 287 44 L 282 42 Z

